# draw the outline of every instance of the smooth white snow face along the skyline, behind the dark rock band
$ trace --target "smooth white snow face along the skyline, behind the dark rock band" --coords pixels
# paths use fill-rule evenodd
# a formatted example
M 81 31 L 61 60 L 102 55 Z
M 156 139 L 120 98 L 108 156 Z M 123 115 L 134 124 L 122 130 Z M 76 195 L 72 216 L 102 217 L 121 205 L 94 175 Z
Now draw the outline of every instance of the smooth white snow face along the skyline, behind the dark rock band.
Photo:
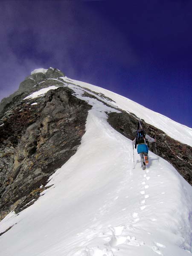
M 173 121 L 172 119 L 163 116 L 160 113 L 154 112 L 148 108 L 143 107 L 142 105 L 127 99 L 119 94 L 113 93 L 109 90 L 103 89 L 101 87 L 97 87 L 92 84 L 84 83 L 81 81 L 69 79 L 67 77 L 63 78 L 64 81 L 72 82 L 74 84 L 78 84 L 82 87 L 86 87 L 90 90 L 93 90 L 97 93 L 103 93 L 105 96 L 113 99 L 116 103 L 113 102 L 118 108 L 125 110 L 127 112 L 134 113 L 141 119 L 144 119 L 145 122 L 154 125 L 155 127 L 159 128 L 160 130 L 164 131 L 167 135 L 172 137 L 175 140 L 180 141 L 181 143 L 187 144 L 192 146 L 192 128 L 189 128 L 185 125 L 181 125 Z

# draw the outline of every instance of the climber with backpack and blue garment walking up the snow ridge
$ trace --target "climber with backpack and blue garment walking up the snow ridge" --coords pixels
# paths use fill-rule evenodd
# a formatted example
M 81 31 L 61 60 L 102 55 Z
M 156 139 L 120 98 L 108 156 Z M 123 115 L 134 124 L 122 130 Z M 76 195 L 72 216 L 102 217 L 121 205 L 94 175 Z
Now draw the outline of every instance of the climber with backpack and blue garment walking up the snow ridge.
M 143 129 L 140 129 L 136 131 L 136 137 L 132 141 L 132 144 L 135 145 L 135 148 L 137 148 L 137 153 L 140 154 L 141 166 L 143 170 L 145 170 L 146 165 L 148 165 L 148 145 L 146 140 L 149 142 L 156 142 L 155 139 L 145 134 Z

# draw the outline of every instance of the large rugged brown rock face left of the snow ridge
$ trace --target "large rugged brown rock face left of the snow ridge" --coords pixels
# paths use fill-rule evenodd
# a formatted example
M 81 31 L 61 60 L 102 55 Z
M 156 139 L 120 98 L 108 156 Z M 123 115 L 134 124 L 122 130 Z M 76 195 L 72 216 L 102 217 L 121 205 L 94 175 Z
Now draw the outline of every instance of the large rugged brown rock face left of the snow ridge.
M 49 90 L 22 101 L 1 120 L 0 219 L 34 203 L 49 176 L 75 154 L 91 107 L 72 93 L 68 87 Z

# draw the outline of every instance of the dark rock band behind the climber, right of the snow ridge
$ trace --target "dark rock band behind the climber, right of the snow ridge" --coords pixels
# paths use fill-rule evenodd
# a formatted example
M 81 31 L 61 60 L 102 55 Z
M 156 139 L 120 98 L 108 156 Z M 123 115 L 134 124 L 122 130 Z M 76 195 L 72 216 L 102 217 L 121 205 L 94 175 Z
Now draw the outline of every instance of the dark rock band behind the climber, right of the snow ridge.
M 108 122 L 111 126 L 130 140 L 134 140 L 137 130 L 137 119 L 134 114 L 125 111 L 109 113 Z M 170 138 L 163 131 L 142 120 L 143 128 L 149 136 L 155 135 L 157 154 L 177 169 L 180 175 L 192 185 L 192 148 Z M 154 143 L 148 143 L 149 149 L 156 154 Z

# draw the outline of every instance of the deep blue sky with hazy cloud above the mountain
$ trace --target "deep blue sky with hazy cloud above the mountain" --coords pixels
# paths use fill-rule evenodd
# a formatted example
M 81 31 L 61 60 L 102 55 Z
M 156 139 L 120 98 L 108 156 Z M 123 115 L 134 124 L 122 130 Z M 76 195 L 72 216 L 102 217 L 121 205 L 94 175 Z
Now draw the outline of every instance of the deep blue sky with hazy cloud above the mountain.
M 0 1 L 0 99 L 35 68 L 192 127 L 192 1 Z

